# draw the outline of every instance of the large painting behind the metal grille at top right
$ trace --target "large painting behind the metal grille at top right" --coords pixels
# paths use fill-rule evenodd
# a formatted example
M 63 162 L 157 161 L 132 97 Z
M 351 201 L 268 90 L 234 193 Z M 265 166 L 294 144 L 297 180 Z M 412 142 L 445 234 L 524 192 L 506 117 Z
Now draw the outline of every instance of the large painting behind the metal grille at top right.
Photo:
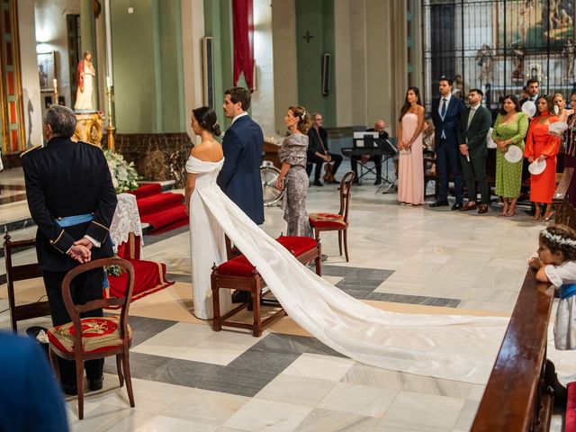
M 561 51 L 574 38 L 573 0 L 500 1 L 498 8 L 498 46 L 525 53 Z M 521 51 L 521 52 L 520 52 Z

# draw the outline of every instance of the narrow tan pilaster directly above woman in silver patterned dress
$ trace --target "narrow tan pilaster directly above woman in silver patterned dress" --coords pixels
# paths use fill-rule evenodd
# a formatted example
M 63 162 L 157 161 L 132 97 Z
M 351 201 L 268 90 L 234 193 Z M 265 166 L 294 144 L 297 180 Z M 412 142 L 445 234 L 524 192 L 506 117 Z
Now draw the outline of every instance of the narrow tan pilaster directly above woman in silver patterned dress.
M 272 0 L 275 132 L 284 136 L 286 109 L 298 100 L 295 0 Z

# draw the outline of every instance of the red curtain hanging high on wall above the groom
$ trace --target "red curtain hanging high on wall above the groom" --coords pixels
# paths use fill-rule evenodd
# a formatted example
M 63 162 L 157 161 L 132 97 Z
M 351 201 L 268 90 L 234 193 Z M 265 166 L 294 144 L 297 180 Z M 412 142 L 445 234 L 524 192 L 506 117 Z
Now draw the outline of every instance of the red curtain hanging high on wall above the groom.
M 232 0 L 234 25 L 234 85 L 244 72 L 250 92 L 254 90 L 254 14 L 252 0 Z

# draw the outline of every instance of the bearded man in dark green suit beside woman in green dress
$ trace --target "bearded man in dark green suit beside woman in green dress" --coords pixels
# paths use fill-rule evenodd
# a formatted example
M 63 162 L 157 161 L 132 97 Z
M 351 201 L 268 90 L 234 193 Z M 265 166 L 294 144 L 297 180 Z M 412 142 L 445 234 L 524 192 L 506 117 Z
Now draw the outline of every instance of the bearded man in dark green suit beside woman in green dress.
M 474 88 L 468 94 L 470 107 L 460 117 L 458 142 L 460 143 L 460 163 L 464 173 L 464 182 L 468 190 L 468 203 L 460 211 L 476 210 L 476 185 L 478 182 L 482 194 L 482 203 L 478 212 L 485 213 L 490 205 L 490 187 L 486 180 L 486 135 L 490 130 L 492 116 L 482 106 L 482 90 Z

